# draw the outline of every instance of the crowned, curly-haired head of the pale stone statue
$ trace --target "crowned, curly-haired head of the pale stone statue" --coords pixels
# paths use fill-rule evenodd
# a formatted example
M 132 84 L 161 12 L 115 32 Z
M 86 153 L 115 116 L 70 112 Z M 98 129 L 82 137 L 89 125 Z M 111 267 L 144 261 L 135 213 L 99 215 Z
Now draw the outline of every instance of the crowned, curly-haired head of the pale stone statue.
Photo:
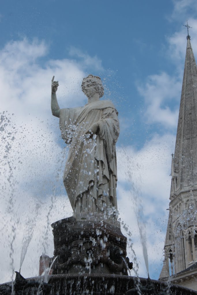
M 98 93 L 99 98 L 101 98 L 104 95 L 104 88 L 102 86 L 102 82 L 100 77 L 88 75 L 86 78 L 82 81 L 82 91 L 84 94 L 89 97 L 90 93 Z

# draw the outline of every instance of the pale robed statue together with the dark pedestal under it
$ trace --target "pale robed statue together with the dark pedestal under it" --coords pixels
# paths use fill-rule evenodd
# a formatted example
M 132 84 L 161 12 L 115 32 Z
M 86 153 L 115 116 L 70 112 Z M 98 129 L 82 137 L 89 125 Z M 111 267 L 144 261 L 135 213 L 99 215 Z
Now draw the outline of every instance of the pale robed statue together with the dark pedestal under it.
M 62 138 L 70 145 L 64 185 L 74 216 L 51 224 L 58 256 L 53 274 L 127 274 L 127 239 L 117 220 L 118 112 L 110 101 L 99 100 L 104 90 L 97 76 L 83 79 L 88 103 L 81 107 L 60 109 L 58 85 L 53 76 L 51 110 L 60 118 Z

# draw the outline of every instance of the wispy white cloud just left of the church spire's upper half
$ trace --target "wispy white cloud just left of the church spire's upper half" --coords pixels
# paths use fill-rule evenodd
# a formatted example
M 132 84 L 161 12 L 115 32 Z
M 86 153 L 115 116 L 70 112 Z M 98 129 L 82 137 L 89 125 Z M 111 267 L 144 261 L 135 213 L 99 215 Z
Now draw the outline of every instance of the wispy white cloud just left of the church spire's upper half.
M 193 1 L 174 1 L 175 11 L 191 7 Z M 188 19 L 193 53 L 197 56 L 197 19 Z M 167 37 L 167 60 L 175 66 L 172 73 L 162 72 L 146 78 L 145 83 L 138 85 L 138 91 L 144 97 L 146 111 L 145 120 L 149 124 L 162 124 L 165 128 L 177 127 L 180 95 L 183 81 L 183 69 L 187 45 L 187 30 L 184 26 L 180 31 Z M 172 107 L 173 106 L 173 107 Z

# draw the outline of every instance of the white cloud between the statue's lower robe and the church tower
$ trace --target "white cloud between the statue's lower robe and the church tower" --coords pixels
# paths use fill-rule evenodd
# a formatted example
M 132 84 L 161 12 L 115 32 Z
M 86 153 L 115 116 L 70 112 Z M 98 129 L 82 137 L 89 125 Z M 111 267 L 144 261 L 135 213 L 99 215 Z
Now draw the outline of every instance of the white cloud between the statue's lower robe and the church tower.
M 139 198 L 143 196 L 146 217 L 151 213 L 154 218 L 159 218 L 168 207 L 171 183 L 170 155 L 174 150 L 174 143 L 173 135 L 157 135 L 150 142 L 146 142 L 141 150 L 135 151 L 132 146 L 128 146 L 117 151 L 119 196 L 124 195 L 126 184 L 131 197 L 133 194 L 139 195 Z M 127 205 L 128 202 L 123 201 L 123 204 Z M 131 204 L 133 205 L 133 202 Z

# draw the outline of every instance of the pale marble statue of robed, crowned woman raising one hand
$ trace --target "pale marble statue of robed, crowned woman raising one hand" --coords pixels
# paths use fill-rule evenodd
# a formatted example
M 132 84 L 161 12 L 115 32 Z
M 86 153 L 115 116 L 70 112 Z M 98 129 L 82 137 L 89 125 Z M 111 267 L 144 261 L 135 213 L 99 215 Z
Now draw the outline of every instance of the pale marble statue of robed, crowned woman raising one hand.
M 59 117 L 61 135 L 70 145 L 64 170 L 64 186 L 74 217 L 84 214 L 117 215 L 117 165 L 115 143 L 120 132 L 118 112 L 112 102 L 99 100 L 104 89 L 101 79 L 89 75 L 82 81 L 88 103 L 60 109 L 52 78 L 51 111 Z

